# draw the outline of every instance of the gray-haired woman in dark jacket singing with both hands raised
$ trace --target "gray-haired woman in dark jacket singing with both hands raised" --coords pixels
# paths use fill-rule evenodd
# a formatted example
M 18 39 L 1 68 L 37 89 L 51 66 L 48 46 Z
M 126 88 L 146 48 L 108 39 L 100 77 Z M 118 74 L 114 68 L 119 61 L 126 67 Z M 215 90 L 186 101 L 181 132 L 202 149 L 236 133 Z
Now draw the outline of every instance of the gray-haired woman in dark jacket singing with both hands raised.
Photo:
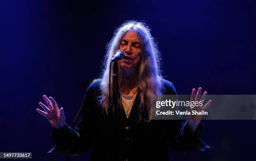
M 125 56 L 118 60 L 117 137 L 114 138 L 113 106 L 108 107 L 110 60 L 116 50 Z M 50 152 L 80 155 L 90 148 L 92 161 L 169 161 L 167 146 L 185 152 L 207 150 L 199 138 L 201 117 L 189 120 L 152 120 L 154 95 L 176 95 L 173 84 L 165 80 L 159 67 L 160 53 L 145 23 L 128 21 L 114 33 L 108 44 L 104 70 L 90 84 L 82 103 L 82 119 L 75 128 L 65 123 L 64 110 L 52 97 L 43 96 L 47 106 L 41 113 L 51 123 L 56 145 Z M 191 100 L 199 101 L 202 88 L 192 90 Z M 207 92 L 201 99 L 205 99 Z M 112 99 L 112 96 L 110 96 Z M 206 109 L 212 101 L 198 109 Z M 117 140 L 117 147 L 112 141 Z M 114 150 L 115 149 L 115 150 Z

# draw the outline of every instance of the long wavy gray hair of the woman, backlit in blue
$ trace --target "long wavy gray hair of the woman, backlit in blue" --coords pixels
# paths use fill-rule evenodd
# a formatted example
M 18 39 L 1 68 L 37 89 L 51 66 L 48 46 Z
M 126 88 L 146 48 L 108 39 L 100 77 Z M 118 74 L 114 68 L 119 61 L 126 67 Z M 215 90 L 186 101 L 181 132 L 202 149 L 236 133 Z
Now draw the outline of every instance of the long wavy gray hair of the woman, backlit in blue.
M 101 96 L 99 103 L 103 110 L 108 113 L 108 93 L 109 93 L 109 68 L 110 60 L 119 49 L 121 39 L 125 33 L 133 30 L 138 34 L 141 40 L 141 60 L 138 69 L 138 89 L 140 90 L 139 104 L 137 107 L 139 120 L 141 120 L 141 113 L 146 112 L 147 119 L 150 121 L 152 118 L 151 102 L 154 95 L 162 94 L 163 85 L 161 83 L 162 75 L 160 70 L 161 56 L 154 38 L 151 36 L 150 28 L 145 24 L 138 21 L 126 21 L 114 32 L 113 38 L 107 45 L 107 53 L 104 57 L 103 70 L 100 75 L 102 80 L 100 83 Z M 120 70 L 119 70 L 120 71 Z M 112 73 L 111 73 L 112 75 Z M 122 73 L 119 76 L 119 83 Z M 112 78 L 111 78 L 112 84 Z M 112 100 L 112 93 L 110 94 Z M 119 98 L 119 105 L 121 99 Z M 119 106 L 121 107 L 121 106 Z

